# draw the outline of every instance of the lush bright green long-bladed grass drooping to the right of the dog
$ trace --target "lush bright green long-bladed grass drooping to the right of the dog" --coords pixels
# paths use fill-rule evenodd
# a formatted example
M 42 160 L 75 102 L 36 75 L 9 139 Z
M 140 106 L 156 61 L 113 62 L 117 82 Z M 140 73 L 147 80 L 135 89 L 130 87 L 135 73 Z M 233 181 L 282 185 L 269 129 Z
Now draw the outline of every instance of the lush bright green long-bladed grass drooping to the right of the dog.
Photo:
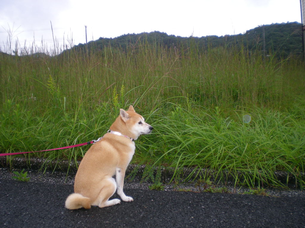
M 267 109 L 251 110 L 250 123 L 242 121 L 246 112 L 236 111 L 235 118 L 223 118 L 221 112 L 216 107 L 195 116 L 177 106 L 160 119 L 156 131 L 162 137 L 159 144 L 148 146 L 144 157 L 156 157 L 154 164 L 171 164 L 173 179 L 179 178 L 183 167 L 195 168 L 187 179 L 208 177 L 216 170 L 214 177 L 220 181 L 233 176 L 239 184 L 263 187 L 283 185 L 275 177 L 277 170 L 294 177 L 302 174 L 304 122 L 297 123 L 289 113 Z M 304 184 L 302 178 L 299 181 Z

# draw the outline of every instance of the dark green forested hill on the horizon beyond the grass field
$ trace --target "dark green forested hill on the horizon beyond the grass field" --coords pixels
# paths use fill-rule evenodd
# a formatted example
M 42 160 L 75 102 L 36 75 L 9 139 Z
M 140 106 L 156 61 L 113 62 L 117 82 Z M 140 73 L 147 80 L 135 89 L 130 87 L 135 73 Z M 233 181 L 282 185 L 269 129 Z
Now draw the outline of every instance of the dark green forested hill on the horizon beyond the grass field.
M 277 56 L 287 57 L 289 54 L 300 54 L 302 52 L 301 24 L 299 22 L 275 23 L 265 25 L 266 52 L 274 53 Z M 87 44 L 88 50 L 102 49 L 105 46 L 121 47 L 125 49 L 130 44 L 147 40 L 165 46 L 188 46 L 195 42 L 198 47 L 217 47 L 243 44 L 249 50 L 263 50 L 263 26 L 250 29 L 243 34 L 225 36 L 202 36 L 202 37 L 181 37 L 167 35 L 167 33 L 154 31 L 151 33 L 124 34 L 116 38 L 102 38 L 90 41 Z M 78 44 L 74 48 L 84 48 L 85 44 Z

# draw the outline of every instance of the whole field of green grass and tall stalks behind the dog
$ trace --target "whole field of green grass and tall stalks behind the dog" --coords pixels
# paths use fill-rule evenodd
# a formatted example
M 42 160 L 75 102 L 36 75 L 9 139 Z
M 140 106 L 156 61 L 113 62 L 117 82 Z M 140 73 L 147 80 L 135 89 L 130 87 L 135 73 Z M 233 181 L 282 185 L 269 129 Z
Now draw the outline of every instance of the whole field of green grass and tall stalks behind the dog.
M 35 52 L 43 52 L 35 50 Z M 54 57 L 0 55 L 0 152 L 36 151 L 97 139 L 133 104 L 154 127 L 134 163 L 183 167 L 235 185 L 305 184 L 305 77 L 300 60 L 263 61 L 244 48 L 199 50 L 137 43 L 127 50 Z M 243 115 L 251 116 L 243 123 Z M 88 147 L 22 155 L 77 161 Z M 8 157 L 10 159 L 10 157 Z

